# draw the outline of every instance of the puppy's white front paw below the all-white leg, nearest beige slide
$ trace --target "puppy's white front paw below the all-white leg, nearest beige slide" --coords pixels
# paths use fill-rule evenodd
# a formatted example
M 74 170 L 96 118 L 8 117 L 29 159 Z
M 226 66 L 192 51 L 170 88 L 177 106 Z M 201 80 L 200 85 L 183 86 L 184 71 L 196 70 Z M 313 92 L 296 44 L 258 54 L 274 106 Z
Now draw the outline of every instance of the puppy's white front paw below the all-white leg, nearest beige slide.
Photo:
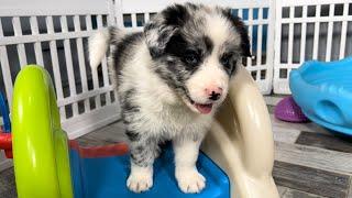
M 196 168 L 177 169 L 176 179 L 185 194 L 198 194 L 206 187 L 206 178 Z

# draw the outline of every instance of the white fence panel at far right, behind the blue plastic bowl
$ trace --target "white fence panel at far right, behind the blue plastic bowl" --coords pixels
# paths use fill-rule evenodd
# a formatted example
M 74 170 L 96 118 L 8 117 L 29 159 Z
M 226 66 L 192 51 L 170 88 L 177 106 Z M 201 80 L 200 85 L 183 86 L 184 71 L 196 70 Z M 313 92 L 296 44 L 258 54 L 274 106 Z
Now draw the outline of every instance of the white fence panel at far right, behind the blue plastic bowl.
M 352 55 L 351 0 L 277 0 L 275 9 L 275 94 L 290 94 L 289 73 L 302 62 Z

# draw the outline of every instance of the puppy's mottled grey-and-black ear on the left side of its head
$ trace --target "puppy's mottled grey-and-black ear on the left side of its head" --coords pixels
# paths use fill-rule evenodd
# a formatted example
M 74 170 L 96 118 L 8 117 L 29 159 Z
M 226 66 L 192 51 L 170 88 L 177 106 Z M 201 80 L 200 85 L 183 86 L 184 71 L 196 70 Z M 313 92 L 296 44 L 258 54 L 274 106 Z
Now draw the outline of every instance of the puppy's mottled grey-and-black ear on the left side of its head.
M 174 4 L 157 13 L 145 24 L 144 35 L 153 58 L 164 54 L 167 43 L 186 23 L 189 15 L 186 7 Z

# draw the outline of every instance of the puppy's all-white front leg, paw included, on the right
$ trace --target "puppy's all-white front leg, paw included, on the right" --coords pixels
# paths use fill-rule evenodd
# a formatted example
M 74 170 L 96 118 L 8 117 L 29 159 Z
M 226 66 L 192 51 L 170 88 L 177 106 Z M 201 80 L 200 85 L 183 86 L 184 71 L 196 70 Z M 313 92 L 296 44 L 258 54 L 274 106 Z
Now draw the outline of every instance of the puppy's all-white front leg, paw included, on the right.
M 175 177 L 178 187 L 186 194 L 200 193 L 206 187 L 206 178 L 198 173 L 196 162 L 202 139 L 176 139 L 173 141 L 175 152 Z

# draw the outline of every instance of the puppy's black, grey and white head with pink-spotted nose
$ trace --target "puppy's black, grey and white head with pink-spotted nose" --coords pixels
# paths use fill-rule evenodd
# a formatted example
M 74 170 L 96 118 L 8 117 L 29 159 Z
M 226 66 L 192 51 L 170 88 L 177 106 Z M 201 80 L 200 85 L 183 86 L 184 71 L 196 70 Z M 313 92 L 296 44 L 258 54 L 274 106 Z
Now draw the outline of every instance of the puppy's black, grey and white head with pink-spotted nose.
M 223 101 L 242 56 L 250 56 L 243 22 L 230 9 L 174 4 L 144 28 L 154 69 L 195 112 Z

